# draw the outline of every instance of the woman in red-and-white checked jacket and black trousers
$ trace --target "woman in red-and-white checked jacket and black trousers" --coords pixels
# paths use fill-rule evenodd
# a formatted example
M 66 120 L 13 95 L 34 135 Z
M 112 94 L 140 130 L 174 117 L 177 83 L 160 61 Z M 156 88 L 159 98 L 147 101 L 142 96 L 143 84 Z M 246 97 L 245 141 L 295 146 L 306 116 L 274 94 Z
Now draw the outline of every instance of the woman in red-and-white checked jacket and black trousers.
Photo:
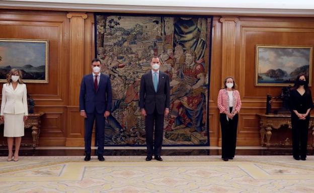
M 228 159 L 233 159 L 236 153 L 238 114 L 242 104 L 240 93 L 235 88 L 234 78 L 226 77 L 223 84 L 224 88 L 219 90 L 217 103 L 222 135 L 221 158 L 228 161 Z

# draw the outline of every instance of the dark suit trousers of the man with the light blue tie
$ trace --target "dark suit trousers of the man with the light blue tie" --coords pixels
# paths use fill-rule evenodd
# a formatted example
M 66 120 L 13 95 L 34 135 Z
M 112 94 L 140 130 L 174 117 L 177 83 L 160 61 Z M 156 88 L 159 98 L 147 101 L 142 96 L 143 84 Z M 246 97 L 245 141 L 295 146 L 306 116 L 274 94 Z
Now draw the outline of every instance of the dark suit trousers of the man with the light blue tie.
M 161 155 L 164 134 L 164 117 L 164 114 L 158 114 L 156 107 L 152 114 L 147 114 L 145 117 L 146 147 L 148 156 Z

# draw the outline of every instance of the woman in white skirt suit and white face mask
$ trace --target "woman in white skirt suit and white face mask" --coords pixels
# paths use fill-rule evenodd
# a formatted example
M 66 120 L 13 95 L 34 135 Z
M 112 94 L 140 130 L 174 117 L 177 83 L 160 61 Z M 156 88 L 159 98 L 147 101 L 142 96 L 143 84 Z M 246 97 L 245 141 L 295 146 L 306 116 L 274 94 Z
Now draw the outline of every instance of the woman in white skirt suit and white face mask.
M 19 149 L 24 136 L 24 121 L 27 120 L 27 91 L 22 80 L 22 72 L 11 69 L 7 74 L 7 83 L 3 85 L 0 120 L 4 121 L 4 136 L 8 137 L 9 156 L 12 161 L 15 138 L 14 161 L 19 160 Z

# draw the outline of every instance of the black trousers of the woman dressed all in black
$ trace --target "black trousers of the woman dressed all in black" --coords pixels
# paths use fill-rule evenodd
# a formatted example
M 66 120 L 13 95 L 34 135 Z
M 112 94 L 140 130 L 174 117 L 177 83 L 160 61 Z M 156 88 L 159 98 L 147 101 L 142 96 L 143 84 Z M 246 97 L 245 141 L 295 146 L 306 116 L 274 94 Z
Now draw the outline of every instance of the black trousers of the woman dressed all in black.
M 293 157 L 306 158 L 309 116 L 300 120 L 291 115 Z

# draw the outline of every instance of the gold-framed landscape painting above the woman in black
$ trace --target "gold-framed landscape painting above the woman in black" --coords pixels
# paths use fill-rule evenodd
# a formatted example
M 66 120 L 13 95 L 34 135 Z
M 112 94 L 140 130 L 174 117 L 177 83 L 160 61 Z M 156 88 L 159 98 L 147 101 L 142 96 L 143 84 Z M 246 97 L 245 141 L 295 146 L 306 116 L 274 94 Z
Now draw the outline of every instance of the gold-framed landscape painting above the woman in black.
M 255 85 L 293 85 L 299 74 L 312 80 L 312 46 L 256 46 Z

